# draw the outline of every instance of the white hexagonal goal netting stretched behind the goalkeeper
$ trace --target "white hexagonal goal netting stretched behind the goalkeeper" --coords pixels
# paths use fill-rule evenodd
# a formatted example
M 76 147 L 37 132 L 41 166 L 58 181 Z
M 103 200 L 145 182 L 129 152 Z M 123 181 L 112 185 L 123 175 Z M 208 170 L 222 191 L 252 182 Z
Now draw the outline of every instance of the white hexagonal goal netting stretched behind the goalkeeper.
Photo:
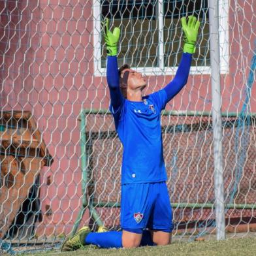
M 255 9 L 253 0 L 219 1 L 231 236 L 256 230 Z M 104 17 L 121 28 L 119 65 L 129 63 L 148 76 L 145 93 L 163 88 L 175 74 L 180 18 L 199 17 L 191 74 L 167 104 L 162 131 L 174 239 L 214 233 L 207 1 L 0 0 L 0 13 L 1 248 L 8 242 L 46 248 L 82 225 L 120 228 L 122 148 L 107 112 Z

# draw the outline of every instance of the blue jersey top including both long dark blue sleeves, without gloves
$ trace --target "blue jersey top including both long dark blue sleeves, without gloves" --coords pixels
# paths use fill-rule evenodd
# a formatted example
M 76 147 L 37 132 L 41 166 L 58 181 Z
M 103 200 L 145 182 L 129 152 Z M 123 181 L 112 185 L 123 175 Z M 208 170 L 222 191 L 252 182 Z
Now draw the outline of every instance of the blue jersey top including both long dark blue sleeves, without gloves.
M 192 54 L 182 54 L 174 79 L 165 88 L 129 101 L 119 85 L 116 56 L 108 56 L 107 81 L 110 89 L 110 112 L 123 144 L 121 184 L 163 182 L 167 180 L 163 159 L 161 110 L 187 83 Z

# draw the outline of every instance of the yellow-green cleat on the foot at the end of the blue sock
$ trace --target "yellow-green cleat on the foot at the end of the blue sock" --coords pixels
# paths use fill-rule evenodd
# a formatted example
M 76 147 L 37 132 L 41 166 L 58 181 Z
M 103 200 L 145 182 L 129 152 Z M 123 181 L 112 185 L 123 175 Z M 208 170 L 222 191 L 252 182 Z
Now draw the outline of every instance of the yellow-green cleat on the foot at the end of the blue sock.
M 84 240 L 86 236 L 91 232 L 88 226 L 82 227 L 76 234 L 64 240 L 61 245 L 61 251 L 74 251 L 76 249 L 84 248 Z

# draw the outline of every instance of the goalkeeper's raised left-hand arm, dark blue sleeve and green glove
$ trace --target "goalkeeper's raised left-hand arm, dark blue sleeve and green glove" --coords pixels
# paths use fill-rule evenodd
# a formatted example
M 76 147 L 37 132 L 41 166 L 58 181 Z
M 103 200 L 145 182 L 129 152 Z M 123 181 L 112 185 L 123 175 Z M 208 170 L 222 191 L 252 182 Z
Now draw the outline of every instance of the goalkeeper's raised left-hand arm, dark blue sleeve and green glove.
M 121 94 L 119 74 L 118 74 L 118 40 L 120 38 L 120 29 L 114 28 L 113 33 L 108 29 L 108 18 L 103 22 L 103 35 L 106 42 L 106 80 L 108 82 L 108 88 L 110 90 L 111 106 L 116 112 L 123 104 L 124 98 Z

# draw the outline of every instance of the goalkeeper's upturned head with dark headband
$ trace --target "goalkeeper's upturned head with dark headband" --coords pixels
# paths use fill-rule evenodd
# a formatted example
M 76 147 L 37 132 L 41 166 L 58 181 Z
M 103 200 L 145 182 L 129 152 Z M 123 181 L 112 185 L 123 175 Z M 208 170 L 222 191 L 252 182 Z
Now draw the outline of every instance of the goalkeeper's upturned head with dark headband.
M 121 72 L 121 79 L 127 82 L 127 89 L 134 91 L 136 89 L 144 89 L 146 87 L 146 79 L 141 73 L 134 71 L 133 69 L 124 69 Z

